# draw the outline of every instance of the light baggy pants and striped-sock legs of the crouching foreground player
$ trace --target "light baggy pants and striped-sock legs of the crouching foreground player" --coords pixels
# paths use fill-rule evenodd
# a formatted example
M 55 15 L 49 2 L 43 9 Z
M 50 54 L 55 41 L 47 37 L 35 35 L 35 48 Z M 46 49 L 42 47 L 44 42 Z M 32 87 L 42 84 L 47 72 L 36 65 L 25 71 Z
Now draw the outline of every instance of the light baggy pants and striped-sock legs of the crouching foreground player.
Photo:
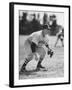
M 21 72 L 25 70 L 26 65 L 28 64 L 28 62 L 30 62 L 33 59 L 35 53 L 38 53 L 38 55 L 40 56 L 37 67 L 41 65 L 41 62 L 43 61 L 46 54 L 45 49 L 43 47 L 38 47 L 35 43 L 30 42 L 29 40 L 27 41 L 27 43 L 29 44 L 29 48 L 31 51 L 26 57 L 25 62 L 21 67 Z

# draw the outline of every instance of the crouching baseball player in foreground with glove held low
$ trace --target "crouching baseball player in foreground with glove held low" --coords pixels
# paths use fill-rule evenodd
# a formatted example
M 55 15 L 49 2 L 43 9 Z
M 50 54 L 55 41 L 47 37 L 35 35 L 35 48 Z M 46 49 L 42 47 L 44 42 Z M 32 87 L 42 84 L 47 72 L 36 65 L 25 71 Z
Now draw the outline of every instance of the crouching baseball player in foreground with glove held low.
M 48 39 L 48 37 L 46 37 L 47 35 L 48 35 L 47 25 L 43 26 L 43 30 L 34 32 L 31 35 L 29 35 L 26 42 L 29 44 L 31 48 L 31 52 L 25 59 L 25 62 L 22 65 L 20 72 L 24 72 L 26 70 L 25 69 L 26 65 L 28 64 L 28 62 L 30 62 L 33 59 L 33 56 L 35 56 L 35 59 L 38 60 L 38 55 L 40 57 L 39 57 L 39 62 L 37 64 L 37 70 L 40 70 L 40 68 L 45 68 L 41 65 L 46 54 L 46 51 L 42 47 L 42 45 L 46 46 L 46 48 L 48 49 L 48 55 L 50 55 L 50 57 L 52 57 L 53 55 L 53 51 L 49 48 L 48 41 L 46 41 L 46 39 Z

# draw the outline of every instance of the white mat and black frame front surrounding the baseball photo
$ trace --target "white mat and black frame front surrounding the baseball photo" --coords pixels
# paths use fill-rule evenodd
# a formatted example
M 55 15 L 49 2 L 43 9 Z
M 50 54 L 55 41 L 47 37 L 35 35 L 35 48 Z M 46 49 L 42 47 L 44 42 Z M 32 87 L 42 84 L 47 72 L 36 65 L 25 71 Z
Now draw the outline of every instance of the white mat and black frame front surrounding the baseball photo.
M 13 60 L 13 86 L 40 86 L 70 83 L 70 6 L 11 3 L 14 10 L 14 60 Z M 45 7 L 46 6 L 46 7 Z M 19 10 L 64 12 L 64 77 L 19 79 Z M 68 31 L 69 30 L 69 31 Z M 11 64 L 10 64 L 11 65 Z M 11 66 L 10 66 L 11 67 Z M 10 71 L 11 75 L 11 71 Z

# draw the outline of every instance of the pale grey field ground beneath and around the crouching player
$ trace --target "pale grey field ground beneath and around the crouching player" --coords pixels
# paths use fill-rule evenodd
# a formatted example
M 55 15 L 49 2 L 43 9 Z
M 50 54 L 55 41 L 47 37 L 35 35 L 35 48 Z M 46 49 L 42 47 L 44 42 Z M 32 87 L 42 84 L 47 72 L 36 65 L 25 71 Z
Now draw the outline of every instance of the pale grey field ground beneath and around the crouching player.
M 25 56 L 29 51 L 25 51 L 24 42 L 27 39 L 27 36 L 19 37 L 19 69 L 21 68 Z M 34 59 L 31 60 L 26 69 L 27 73 L 23 73 L 19 75 L 19 79 L 30 79 L 30 78 L 55 78 L 55 77 L 63 77 L 64 76 L 64 48 L 61 47 L 61 43 L 59 42 L 57 47 L 54 47 L 54 43 L 56 41 L 56 37 L 49 38 L 49 44 L 52 50 L 54 51 L 54 56 L 50 58 L 48 55 L 45 56 L 42 65 L 46 68 L 45 71 L 33 71 L 36 69 L 38 61 Z M 27 50 L 29 50 L 27 48 Z

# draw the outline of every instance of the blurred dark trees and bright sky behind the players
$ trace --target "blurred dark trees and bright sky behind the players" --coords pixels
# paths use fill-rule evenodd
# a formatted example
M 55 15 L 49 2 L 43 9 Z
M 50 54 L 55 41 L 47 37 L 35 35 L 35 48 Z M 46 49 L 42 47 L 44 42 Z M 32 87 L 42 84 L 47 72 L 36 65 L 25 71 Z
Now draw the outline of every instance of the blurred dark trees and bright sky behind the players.
M 49 34 L 55 36 L 58 33 L 57 26 L 64 26 L 64 13 L 19 11 L 19 34 L 29 35 L 42 29 L 47 24 Z

